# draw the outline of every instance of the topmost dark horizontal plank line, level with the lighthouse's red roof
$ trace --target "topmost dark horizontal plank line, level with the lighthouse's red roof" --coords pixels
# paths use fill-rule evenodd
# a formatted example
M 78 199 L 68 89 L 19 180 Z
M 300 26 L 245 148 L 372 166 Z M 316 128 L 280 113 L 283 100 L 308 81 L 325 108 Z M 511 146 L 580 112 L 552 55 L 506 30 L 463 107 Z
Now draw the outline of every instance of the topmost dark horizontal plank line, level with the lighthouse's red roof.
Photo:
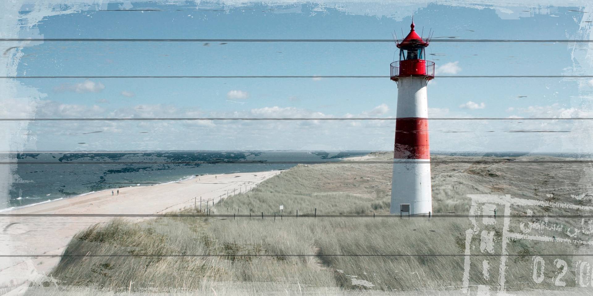
M 453 37 L 432 38 L 431 42 L 477 42 L 477 43 L 590 43 L 587 39 L 458 39 Z M 66 42 L 388 42 L 393 39 L 222 39 L 222 38 L 0 38 L 0 41 L 66 41 Z

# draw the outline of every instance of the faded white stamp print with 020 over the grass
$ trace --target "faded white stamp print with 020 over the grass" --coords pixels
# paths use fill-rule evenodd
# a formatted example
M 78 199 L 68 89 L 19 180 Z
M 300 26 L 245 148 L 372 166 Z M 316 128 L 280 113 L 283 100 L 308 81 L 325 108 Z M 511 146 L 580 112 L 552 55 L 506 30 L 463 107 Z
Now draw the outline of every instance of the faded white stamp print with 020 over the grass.
M 559 223 L 550 223 L 547 217 L 541 220 L 529 218 L 530 215 L 533 215 L 533 210 L 530 209 L 527 210 L 525 218 L 508 217 L 508 215 L 511 215 L 512 207 L 565 208 L 589 211 L 589 213 L 593 213 L 593 207 L 563 202 L 527 200 L 514 198 L 511 195 L 468 194 L 467 197 L 471 198 L 470 221 L 473 228 L 466 230 L 465 255 L 468 256 L 464 257 L 462 282 L 464 294 L 477 296 L 512 295 L 506 291 L 506 274 L 509 268 L 509 256 L 507 255 L 509 255 L 508 246 L 510 240 L 593 246 L 592 241 L 578 239 L 578 234 L 593 233 L 593 221 L 591 219 L 581 218 L 578 227 L 567 227 Z M 553 195 L 549 194 L 547 197 L 553 197 Z M 579 199 L 579 197 L 575 198 Z M 482 215 L 482 217 L 472 217 L 472 215 Z M 503 216 L 502 225 L 500 219 L 495 218 L 496 215 Z M 514 228 L 519 231 L 509 231 L 509 226 L 517 226 Z M 497 231 L 499 234 L 502 233 L 500 240 L 495 239 Z M 498 254 L 500 256 L 469 256 L 473 254 Z M 575 254 L 575 256 L 578 257 L 578 254 Z M 472 265 L 472 260 L 479 260 L 481 263 L 474 262 Z M 493 262 L 495 260 L 498 262 Z M 569 271 L 569 264 L 566 260 L 560 258 L 547 258 L 546 260 L 553 262 L 551 268 L 554 268 L 554 266 L 556 268 L 555 276 L 551 279 L 553 284 L 566 287 L 567 278 L 565 275 Z M 530 263 L 531 267 L 533 267 L 533 274 L 529 277 L 535 284 L 541 284 L 544 281 L 546 260 L 537 255 L 531 258 Z M 572 263 L 575 272 L 575 287 L 593 287 L 593 264 L 584 259 L 575 260 Z M 477 269 L 481 270 L 471 270 L 471 268 L 476 269 L 476 266 L 478 266 Z M 480 274 L 482 281 L 479 284 L 472 284 L 470 282 L 472 278 L 470 273 L 474 276 L 476 273 Z M 487 285 L 484 285 L 484 282 Z

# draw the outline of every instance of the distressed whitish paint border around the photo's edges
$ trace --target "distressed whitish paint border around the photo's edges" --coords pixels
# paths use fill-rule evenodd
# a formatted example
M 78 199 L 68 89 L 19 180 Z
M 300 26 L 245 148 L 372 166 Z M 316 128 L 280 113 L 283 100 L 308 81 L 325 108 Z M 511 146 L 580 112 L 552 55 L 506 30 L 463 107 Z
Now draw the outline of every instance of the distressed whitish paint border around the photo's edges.
M 134 2 L 142 2 L 148 0 L 138 0 Z M 113 0 L 4 0 L 0 2 L 0 14 L 2 17 L 0 18 L 0 38 L 42 38 L 43 36 L 39 35 L 39 32 L 34 30 L 34 25 L 36 25 L 39 21 L 43 20 L 44 17 L 50 17 L 52 15 L 58 14 L 70 14 L 78 11 L 83 10 L 93 10 L 93 9 L 102 9 L 106 7 L 106 5 L 110 2 L 129 2 L 129 1 L 113 1 Z M 157 3 L 168 3 L 168 4 L 184 4 L 185 0 L 166 0 L 166 1 L 157 1 Z M 250 3 L 254 3 L 253 1 L 247 0 L 225 0 L 220 1 L 221 4 L 228 5 L 228 6 L 241 6 L 241 5 L 248 5 Z M 359 0 L 342 0 L 339 2 L 336 1 L 318 1 L 320 2 L 321 6 L 328 5 L 332 7 L 342 7 L 346 5 L 348 8 L 347 10 L 350 13 L 358 13 L 360 14 L 371 14 L 371 15 L 390 15 L 391 17 L 401 18 L 406 17 L 410 14 L 410 12 L 415 11 L 417 8 L 426 7 L 428 4 L 436 3 L 441 5 L 451 5 L 451 6 L 458 6 L 458 7 L 469 7 L 469 8 L 477 8 L 477 9 L 484 9 L 484 8 L 504 8 L 504 7 L 550 7 L 550 6 L 557 6 L 557 7 L 584 7 L 584 11 L 589 11 L 588 14 L 585 14 L 582 21 L 581 27 L 579 28 L 579 32 L 577 36 L 578 39 L 591 39 L 591 22 L 587 23 L 585 21 L 593 20 L 593 5 L 591 5 L 590 1 L 566 1 L 566 0 L 546 0 L 546 1 L 496 1 L 496 0 L 482 0 L 482 1 L 463 1 L 463 0 L 444 0 L 444 1 L 413 1 L 413 0 L 406 0 L 406 1 L 397 1 L 397 2 L 381 2 L 381 1 L 359 1 Z M 199 1 L 196 2 L 196 8 L 199 7 Z M 261 3 L 261 2 L 257 2 Z M 289 5 L 289 4 L 304 4 L 307 1 L 292 1 L 292 0 L 275 0 L 275 1 L 267 1 L 264 2 L 265 4 L 269 5 Z M 58 9 L 54 9 L 56 4 L 69 4 L 69 8 L 63 11 Z M 27 15 L 20 15 L 19 11 L 23 5 L 31 5 L 32 11 Z M 374 6 L 374 11 L 366 9 L 366 5 L 376 5 Z M 382 9 L 382 8 L 387 9 Z M 393 9 L 394 7 L 398 7 L 399 9 Z M 403 9 L 402 9 L 403 7 Z M 393 11 L 384 11 L 393 9 Z M 2 43 L 7 44 L 7 43 Z M 14 44 L 14 45 L 12 45 Z M 11 46 L 30 46 L 31 43 L 21 42 L 21 43 L 11 43 Z M 588 49 L 585 52 L 579 52 L 576 50 L 577 46 L 588 46 Z M 575 50 L 573 50 L 573 69 L 572 72 L 580 73 L 580 72 L 593 72 L 593 43 L 586 43 L 575 45 Z M 4 49 L 2 49 L 4 50 Z M 4 53 L 4 52 L 3 52 Z M 14 76 L 17 71 L 18 63 L 20 62 L 20 58 L 22 57 L 22 53 L 20 50 L 14 49 L 9 50 L 7 54 L 0 54 L 0 75 L 1 76 Z M 578 98 L 578 102 L 581 104 L 581 108 L 586 111 L 593 110 L 593 96 L 589 94 L 586 90 L 586 86 L 582 83 L 579 87 L 579 93 L 581 94 L 581 98 Z M 4 110 L 5 114 L 18 114 L 20 118 L 33 118 L 35 116 L 37 101 L 43 98 L 44 94 L 41 94 L 36 89 L 20 85 L 17 81 L 13 79 L 0 79 L 0 94 L 2 97 L 0 98 L 0 110 Z M 585 99 L 583 99 L 585 98 Z M 576 102 L 575 102 L 576 103 Z M 4 128 L 0 129 L 0 151 L 21 151 L 23 150 L 23 146 L 27 141 L 30 143 L 33 139 L 29 139 L 27 136 L 23 136 L 27 134 L 27 122 L 23 121 L 12 121 L 12 122 L 5 122 Z M 593 123 L 589 121 L 581 121 L 575 124 L 574 129 L 579 131 L 576 133 L 578 136 L 577 143 L 586 146 L 593 146 Z M 585 151 L 585 149 L 584 149 Z M 588 152 L 588 150 L 586 150 Z M 4 159 L 1 159 L 4 157 Z M 0 161 L 14 161 L 9 156 L 0 156 Z M 0 168 L 0 202 L 8 202 L 8 190 L 13 181 L 12 171 L 14 167 L 12 166 L 2 166 Z M 593 170 L 591 170 L 593 173 Z M 584 178 L 588 181 L 592 174 L 588 173 L 585 174 Z M 590 182 L 586 183 L 589 184 Z M 593 190 L 592 190 L 593 192 Z M 0 221 L 0 226 L 2 223 L 6 221 Z M 11 250 L 0 250 L 1 253 L 10 254 L 12 253 Z M 468 257 L 466 257 L 467 260 Z M 5 262 L 8 260 L 10 262 Z M 21 260 L 21 259 L 8 259 L 2 258 L 0 259 L 0 266 L 5 266 L 5 263 L 13 264 L 13 260 Z M 23 266 L 23 270 L 21 272 L 15 271 L 12 272 L 11 276 L 0 276 L 0 287 L 15 287 L 20 286 L 20 291 L 24 291 L 27 287 L 27 281 L 30 280 L 30 276 L 28 275 L 29 272 L 33 272 L 31 276 L 42 276 L 36 275 L 36 271 L 34 266 L 30 263 L 30 260 L 24 260 L 21 262 L 21 266 Z M 21 277 L 18 277 L 18 274 L 21 274 Z M 17 278 L 14 278 L 17 276 Z M 465 274 L 464 274 L 465 276 Z M 14 282 L 13 282 L 14 281 Z M 501 279 L 504 282 L 504 278 Z M 465 280 L 464 280 L 465 282 Z M 500 291 L 499 291 L 500 292 Z

